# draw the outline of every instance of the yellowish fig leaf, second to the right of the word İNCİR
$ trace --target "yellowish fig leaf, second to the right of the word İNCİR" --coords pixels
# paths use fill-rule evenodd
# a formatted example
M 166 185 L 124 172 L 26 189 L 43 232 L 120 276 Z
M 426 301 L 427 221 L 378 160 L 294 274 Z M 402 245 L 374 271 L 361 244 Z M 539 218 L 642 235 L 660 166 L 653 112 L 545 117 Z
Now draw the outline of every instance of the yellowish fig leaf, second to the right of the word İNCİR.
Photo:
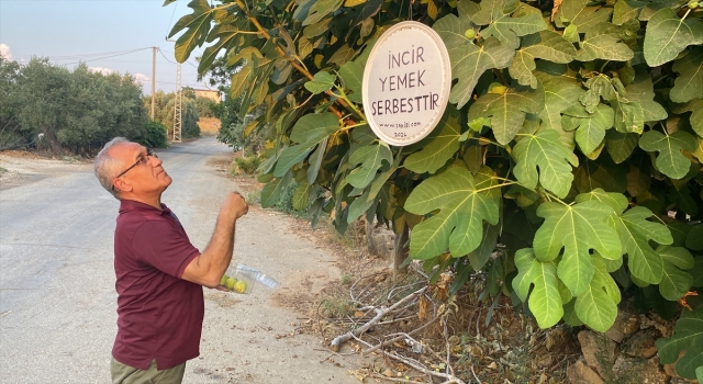
M 571 63 L 576 57 L 576 48 L 561 34 L 554 31 L 542 31 L 522 38 L 522 47 L 515 53 L 509 70 L 510 76 L 523 86 L 537 88 L 537 78 L 532 71 L 537 67 L 535 58 L 553 63 Z

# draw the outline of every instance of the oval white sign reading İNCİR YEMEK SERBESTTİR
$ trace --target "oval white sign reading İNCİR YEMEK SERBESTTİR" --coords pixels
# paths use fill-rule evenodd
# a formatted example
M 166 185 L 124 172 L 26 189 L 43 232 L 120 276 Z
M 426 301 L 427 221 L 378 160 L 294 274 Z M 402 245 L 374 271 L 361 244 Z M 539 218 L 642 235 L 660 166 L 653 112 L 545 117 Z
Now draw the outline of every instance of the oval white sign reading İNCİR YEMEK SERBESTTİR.
M 451 64 L 439 35 L 405 21 L 378 39 L 364 69 L 364 111 L 383 142 L 420 142 L 439 122 L 449 100 Z

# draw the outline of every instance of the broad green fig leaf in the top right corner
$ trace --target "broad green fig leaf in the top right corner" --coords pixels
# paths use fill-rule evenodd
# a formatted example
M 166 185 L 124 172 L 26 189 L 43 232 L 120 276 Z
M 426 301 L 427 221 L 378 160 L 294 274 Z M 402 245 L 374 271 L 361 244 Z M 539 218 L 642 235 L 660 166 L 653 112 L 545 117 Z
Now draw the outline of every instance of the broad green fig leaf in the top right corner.
M 703 21 L 681 19 L 670 8 L 649 18 L 645 33 L 645 59 L 650 67 L 673 60 L 689 45 L 703 44 Z

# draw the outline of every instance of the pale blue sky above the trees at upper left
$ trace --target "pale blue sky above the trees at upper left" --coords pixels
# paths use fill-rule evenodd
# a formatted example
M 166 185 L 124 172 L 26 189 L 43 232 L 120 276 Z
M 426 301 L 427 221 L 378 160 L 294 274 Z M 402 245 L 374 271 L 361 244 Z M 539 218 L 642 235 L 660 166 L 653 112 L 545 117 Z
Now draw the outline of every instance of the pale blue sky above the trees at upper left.
M 156 90 L 176 90 L 174 42 L 166 36 L 191 13 L 189 0 L 0 0 L 0 55 L 20 64 L 33 56 L 72 69 L 85 61 L 96 71 L 131 74 L 152 93 L 152 47 L 156 46 Z M 174 36 L 176 39 L 178 35 Z M 181 65 L 181 84 L 198 82 L 196 48 Z M 111 56 L 111 57 L 109 57 Z

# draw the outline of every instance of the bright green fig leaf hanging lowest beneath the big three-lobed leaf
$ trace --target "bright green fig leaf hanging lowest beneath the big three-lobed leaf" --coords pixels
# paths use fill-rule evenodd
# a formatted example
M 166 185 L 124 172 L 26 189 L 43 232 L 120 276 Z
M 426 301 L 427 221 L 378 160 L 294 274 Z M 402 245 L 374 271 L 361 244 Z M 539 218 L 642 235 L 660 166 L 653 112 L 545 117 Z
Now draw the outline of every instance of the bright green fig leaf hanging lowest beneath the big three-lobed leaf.
M 604 332 L 617 317 L 620 287 L 605 269 L 605 262 L 600 256 L 594 255 L 591 262 L 594 266 L 593 279 L 585 291 L 576 297 L 574 309 L 583 324 Z

